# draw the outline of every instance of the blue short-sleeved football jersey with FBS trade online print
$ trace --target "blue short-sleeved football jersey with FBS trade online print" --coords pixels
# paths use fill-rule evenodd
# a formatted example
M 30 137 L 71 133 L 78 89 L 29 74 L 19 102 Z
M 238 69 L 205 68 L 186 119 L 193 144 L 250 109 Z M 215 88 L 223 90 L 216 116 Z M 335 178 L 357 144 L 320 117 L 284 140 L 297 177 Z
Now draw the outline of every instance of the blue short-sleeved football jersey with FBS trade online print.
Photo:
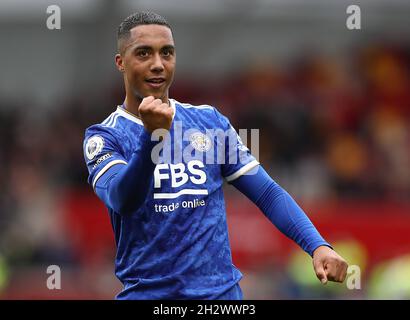
M 172 127 L 152 149 L 159 161 L 143 204 L 127 215 L 107 206 L 124 285 L 118 299 L 217 299 L 242 278 L 232 263 L 222 186 L 259 163 L 216 108 L 170 105 Z M 110 168 L 127 165 L 143 130 L 123 106 L 86 129 L 95 190 Z

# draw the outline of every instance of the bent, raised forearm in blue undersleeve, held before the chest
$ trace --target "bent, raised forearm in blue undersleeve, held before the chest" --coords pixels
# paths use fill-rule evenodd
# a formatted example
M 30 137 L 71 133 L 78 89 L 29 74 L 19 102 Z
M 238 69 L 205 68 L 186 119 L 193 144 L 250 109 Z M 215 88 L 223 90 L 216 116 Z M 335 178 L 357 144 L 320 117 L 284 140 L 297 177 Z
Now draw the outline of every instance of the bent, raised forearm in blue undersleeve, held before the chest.
M 143 132 L 140 144 L 127 165 L 115 165 L 95 186 L 99 198 L 115 212 L 126 214 L 143 204 L 151 185 L 155 163 L 151 159 L 154 142 Z

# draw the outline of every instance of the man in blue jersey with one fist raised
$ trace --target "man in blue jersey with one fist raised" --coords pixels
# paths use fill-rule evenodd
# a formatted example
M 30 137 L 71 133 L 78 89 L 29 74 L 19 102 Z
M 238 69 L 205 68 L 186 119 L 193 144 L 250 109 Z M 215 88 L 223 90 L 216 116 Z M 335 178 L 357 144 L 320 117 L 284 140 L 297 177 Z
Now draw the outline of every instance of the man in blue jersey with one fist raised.
M 291 196 L 265 172 L 212 106 L 170 99 L 171 27 L 152 12 L 118 29 L 126 97 L 87 128 L 88 182 L 115 233 L 117 299 L 242 299 L 222 191 L 227 181 L 313 258 L 318 278 L 342 282 L 347 263 Z M 222 134 L 221 134 L 222 133 Z

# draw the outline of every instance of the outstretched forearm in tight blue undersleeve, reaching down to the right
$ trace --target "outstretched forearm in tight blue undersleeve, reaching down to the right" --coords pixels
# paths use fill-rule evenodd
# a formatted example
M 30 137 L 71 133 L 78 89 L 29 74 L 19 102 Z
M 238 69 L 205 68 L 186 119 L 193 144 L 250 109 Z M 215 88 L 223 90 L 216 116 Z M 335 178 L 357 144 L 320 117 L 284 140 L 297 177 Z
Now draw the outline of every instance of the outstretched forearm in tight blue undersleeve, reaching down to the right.
M 261 167 L 254 175 L 243 175 L 232 184 L 252 200 L 287 237 L 312 256 L 321 246 L 330 246 L 316 230 L 295 200 Z

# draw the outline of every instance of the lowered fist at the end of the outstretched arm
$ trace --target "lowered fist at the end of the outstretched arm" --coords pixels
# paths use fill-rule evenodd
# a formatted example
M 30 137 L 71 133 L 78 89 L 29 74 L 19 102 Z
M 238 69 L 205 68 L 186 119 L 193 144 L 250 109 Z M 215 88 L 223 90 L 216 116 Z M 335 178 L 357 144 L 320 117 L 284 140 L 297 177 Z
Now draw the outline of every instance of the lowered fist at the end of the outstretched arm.
M 347 273 L 347 262 L 336 251 L 320 246 L 313 252 L 313 268 L 319 280 L 343 282 Z

